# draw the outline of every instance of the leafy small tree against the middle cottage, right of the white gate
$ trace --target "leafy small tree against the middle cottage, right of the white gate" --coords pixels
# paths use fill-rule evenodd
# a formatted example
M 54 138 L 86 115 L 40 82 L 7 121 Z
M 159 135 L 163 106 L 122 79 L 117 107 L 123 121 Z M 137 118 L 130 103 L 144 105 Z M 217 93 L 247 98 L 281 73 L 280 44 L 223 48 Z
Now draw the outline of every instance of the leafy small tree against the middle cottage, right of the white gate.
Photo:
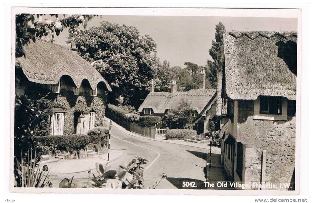
M 169 109 L 164 119 L 171 129 L 193 129 L 192 108 L 185 99 L 181 99 L 178 107 Z

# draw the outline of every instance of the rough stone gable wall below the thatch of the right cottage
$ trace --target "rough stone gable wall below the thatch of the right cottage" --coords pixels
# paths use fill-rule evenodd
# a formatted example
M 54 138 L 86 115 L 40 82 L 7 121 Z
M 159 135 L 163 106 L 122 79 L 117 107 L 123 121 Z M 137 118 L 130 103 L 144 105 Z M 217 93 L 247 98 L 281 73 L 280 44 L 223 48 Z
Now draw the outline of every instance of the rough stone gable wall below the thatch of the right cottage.
M 254 120 L 253 105 L 252 100 L 238 102 L 237 140 L 251 141 L 245 145 L 245 181 L 260 182 L 266 150 L 265 181 L 290 183 L 295 169 L 295 101 L 288 101 L 287 121 Z

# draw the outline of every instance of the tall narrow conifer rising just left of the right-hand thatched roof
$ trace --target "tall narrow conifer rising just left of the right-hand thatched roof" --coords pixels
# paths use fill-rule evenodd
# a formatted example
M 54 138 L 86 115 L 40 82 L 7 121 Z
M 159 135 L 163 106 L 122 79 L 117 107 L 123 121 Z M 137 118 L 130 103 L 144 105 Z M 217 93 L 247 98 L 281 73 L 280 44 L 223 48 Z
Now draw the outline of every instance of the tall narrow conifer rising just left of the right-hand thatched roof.
M 222 22 L 216 25 L 215 39 L 212 40 L 212 47 L 209 49 L 209 54 L 212 57 L 212 61 L 207 60 L 209 67 L 208 78 L 211 82 L 212 87 L 217 87 L 217 73 L 222 71 L 223 67 L 223 37 L 225 33 L 225 27 Z

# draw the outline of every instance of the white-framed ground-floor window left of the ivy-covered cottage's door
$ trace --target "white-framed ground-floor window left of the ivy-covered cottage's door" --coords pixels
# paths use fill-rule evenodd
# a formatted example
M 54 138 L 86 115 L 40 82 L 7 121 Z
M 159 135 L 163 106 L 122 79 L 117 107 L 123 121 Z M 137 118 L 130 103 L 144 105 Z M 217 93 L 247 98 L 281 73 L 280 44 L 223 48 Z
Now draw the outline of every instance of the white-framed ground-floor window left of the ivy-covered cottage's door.
M 49 115 L 49 133 L 50 135 L 63 135 L 64 131 L 64 113 L 52 113 Z

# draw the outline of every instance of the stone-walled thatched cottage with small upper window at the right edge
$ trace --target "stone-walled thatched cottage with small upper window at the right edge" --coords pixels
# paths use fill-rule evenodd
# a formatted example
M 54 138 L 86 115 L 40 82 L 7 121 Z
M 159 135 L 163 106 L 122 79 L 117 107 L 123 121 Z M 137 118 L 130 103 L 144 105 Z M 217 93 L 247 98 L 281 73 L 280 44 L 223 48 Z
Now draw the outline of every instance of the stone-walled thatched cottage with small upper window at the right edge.
M 294 190 L 297 34 L 227 32 L 223 43 L 217 88 L 217 115 L 227 118 L 223 166 L 233 181 Z

